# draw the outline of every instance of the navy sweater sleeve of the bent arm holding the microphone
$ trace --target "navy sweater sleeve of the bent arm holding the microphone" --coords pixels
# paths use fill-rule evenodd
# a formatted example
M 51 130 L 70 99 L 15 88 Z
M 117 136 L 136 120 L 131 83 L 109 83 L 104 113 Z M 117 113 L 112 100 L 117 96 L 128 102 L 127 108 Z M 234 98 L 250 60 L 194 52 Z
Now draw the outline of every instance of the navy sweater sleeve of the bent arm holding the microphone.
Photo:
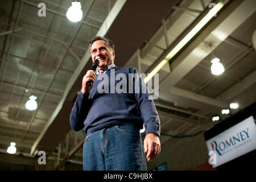
M 84 128 L 84 120 L 88 113 L 88 98 L 89 94 L 84 95 L 81 91 L 77 94 L 77 98 L 69 118 L 70 125 L 75 131 L 80 131 Z

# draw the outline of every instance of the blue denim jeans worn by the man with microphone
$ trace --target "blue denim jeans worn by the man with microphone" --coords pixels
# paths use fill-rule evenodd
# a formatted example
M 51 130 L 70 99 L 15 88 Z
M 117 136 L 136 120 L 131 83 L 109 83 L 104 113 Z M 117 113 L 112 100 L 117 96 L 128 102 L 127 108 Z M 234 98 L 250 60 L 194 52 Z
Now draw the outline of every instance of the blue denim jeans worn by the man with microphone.
M 146 171 L 139 129 L 119 125 L 88 134 L 83 146 L 83 167 L 85 171 Z

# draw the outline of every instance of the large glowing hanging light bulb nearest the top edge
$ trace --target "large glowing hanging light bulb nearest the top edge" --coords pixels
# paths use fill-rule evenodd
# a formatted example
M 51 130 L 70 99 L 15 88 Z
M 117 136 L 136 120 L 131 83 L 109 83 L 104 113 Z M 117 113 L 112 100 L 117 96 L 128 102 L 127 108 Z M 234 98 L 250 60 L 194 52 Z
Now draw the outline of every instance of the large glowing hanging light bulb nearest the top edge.
M 81 3 L 72 2 L 72 6 L 69 7 L 66 16 L 71 22 L 79 22 L 82 19 Z

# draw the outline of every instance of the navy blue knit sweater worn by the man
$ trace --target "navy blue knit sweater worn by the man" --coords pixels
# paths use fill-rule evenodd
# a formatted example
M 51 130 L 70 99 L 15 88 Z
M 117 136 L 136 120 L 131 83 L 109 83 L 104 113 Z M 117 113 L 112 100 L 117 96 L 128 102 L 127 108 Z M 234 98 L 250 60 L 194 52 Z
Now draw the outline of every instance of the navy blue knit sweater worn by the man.
M 133 67 L 114 67 L 97 75 L 89 94 L 82 94 L 80 91 L 70 115 L 72 129 L 79 131 L 84 128 L 85 134 L 113 125 L 134 124 L 142 129 L 144 122 L 146 134 L 154 133 L 160 137 L 159 116 L 153 100 L 148 99 L 151 97 L 148 89 L 142 89 L 145 85 L 142 78 L 136 79 L 129 73 L 139 74 Z M 121 84 L 125 83 L 123 78 L 126 78 L 126 86 Z M 122 92 L 114 89 L 115 86 L 122 89 Z M 137 86 L 139 93 L 138 90 L 135 92 Z

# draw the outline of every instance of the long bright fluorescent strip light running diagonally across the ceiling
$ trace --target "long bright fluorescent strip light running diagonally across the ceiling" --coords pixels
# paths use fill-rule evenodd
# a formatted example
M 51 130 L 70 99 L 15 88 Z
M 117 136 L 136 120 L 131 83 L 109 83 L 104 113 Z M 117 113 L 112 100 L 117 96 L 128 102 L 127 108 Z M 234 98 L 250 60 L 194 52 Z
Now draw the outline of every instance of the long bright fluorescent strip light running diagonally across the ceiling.
M 204 16 L 203 19 L 200 20 L 199 23 L 196 24 L 195 27 L 192 28 L 192 30 L 171 50 L 170 53 L 162 60 L 153 70 L 151 73 L 148 74 L 146 78 L 144 78 L 144 82 L 147 83 L 152 77 L 155 76 L 156 73 L 159 72 L 160 69 L 164 67 L 164 65 L 172 59 L 176 55 L 177 52 L 180 51 L 181 48 L 185 46 L 209 22 L 210 19 L 213 18 L 213 16 L 220 11 L 220 9 L 224 6 L 224 3 L 218 2 L 217 5 L 215 5 L 207 15 Z

